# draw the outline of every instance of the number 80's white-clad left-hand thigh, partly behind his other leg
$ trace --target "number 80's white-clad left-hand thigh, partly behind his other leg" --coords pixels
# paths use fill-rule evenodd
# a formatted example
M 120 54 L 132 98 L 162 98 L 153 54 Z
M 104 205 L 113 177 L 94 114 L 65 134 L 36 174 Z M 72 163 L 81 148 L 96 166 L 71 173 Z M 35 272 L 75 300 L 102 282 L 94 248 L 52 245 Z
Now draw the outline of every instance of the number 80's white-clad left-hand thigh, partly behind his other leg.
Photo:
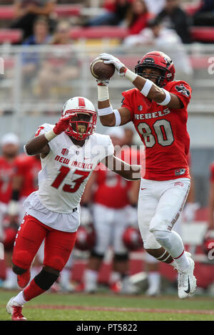
M 158 249 L 161 247 L 150 232 L 150 223 L 156 213 L 157 206 L 158 199 L 153 195 L 152 183 L 141 180 L 138 197 L 138 227 L 145 249 Z

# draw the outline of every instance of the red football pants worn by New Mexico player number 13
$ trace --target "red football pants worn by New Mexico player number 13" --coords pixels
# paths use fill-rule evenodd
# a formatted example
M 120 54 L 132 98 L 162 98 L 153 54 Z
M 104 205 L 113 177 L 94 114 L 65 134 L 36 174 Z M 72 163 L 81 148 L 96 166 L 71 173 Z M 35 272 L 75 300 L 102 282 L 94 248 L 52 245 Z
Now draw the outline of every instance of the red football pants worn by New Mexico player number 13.
M 25 215 L 16 235 L 12 262 L 17 267 L 29 269 L 44 239 L 44 266 L 61 272 L 75 244 L 76 232 L 55 230 L 31 215 Z

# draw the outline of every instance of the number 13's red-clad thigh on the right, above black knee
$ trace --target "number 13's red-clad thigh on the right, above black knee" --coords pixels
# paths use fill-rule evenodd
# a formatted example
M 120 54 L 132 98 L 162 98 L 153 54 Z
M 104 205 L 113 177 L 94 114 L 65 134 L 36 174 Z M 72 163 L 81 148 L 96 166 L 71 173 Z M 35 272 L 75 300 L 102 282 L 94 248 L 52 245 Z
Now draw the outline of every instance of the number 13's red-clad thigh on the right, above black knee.
M 76 232 L 50 230 L 44 243 L 44 266 L 61 272 L 76 242 Z

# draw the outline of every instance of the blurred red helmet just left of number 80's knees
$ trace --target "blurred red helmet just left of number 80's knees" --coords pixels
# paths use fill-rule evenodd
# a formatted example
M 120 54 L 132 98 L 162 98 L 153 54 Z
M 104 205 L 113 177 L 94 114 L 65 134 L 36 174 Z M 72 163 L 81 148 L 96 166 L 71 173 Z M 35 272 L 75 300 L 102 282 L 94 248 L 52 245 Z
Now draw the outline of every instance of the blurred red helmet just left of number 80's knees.
M 123 232 L 123 243 L 130 251 L 135 251 L 143 247 L 141 234 L 137 228 L 127 227 Z

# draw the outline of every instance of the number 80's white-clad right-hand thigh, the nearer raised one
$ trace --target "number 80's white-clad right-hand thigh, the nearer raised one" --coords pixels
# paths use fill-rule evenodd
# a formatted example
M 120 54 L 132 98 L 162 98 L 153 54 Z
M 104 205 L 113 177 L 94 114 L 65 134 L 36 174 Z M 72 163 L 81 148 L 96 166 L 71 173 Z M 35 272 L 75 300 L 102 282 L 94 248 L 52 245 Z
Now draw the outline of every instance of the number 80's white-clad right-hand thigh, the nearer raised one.
M 165 185 L 165 190 L 156 208 L 156 214 L 151 220 L 151 232 L 154 230 L 172 230 L 173 225 L 180 217 L 190 190 L 190 180 L 188 178 L 182 178 L 179 181 L 169 180 Z

